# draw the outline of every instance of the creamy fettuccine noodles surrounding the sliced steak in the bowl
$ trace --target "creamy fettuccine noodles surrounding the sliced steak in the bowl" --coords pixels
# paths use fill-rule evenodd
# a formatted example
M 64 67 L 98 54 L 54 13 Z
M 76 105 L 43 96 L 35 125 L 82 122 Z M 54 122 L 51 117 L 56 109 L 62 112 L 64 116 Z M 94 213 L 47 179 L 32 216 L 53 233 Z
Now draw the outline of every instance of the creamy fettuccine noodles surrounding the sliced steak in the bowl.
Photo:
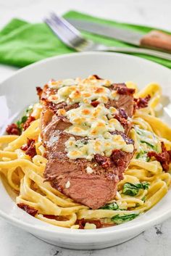
M 25 204 L 38 210 L 35 217 L 56 226 L 65 228 L 79 228 L 76 221 L 80 219 L 100 219 L 104 223 L 113 223 L 114 216 L 140 214 L 159 202 L 170 188 L 170 173 L 164 172 L 162 165 L 157 160 L 144 157 L 148 145 L 153 142 L 158 152 L 161 152 L 161 141 L 164 141 L 167 150 L 171 149 L 171 129 L 155 117 L 155 107 L 159 104 L 162 89 L 156 83 L 150 83 L 142 91 L 138 91 L 135 84 L 127 83 L 129 88 L 136 88 L 136 96 L 151 96 L 149 107 L 136 110 L 133 116 L 133 128 L 130 137 L 135 141 L 137 152 L 124 173 L 124 179 L 118 183 L 117 195 L 108 205 L 117 205 L 116 210 L 103 207 L 91 210 L 85 205 L 80 205 L 66 197 L 57 189 L 54 189 L 49 181 L 44 181 L 43 171 L 46 166 L 46 158 L 43 157 L 44 148 L 40 140 L 40 105 L 33 107 L 36 120 L 20 136 L 0 137 L 0 172 L 7 178 L 9 185 L 16 191 L 16 203 Z M 152 136 L 152 137 L 151 137 Z M 140 139 L 140 137 L 142 137 Z M 146 143 L 141 142 L 145 139 Z M 22 151 L 21 146 L 27 143 L 27 139 L 36 140 L 36 156 L 33 159 Z M 124 193 L 125 184 L 145 184 L 134 195 Z M 129 189 L 129 188 L 128 188 Z M 46 215 L 54 215 L 49 218 Z M 57 216 L 57 218 L 55 218 Z M 96 228 L 90 224 L 88 228 Z

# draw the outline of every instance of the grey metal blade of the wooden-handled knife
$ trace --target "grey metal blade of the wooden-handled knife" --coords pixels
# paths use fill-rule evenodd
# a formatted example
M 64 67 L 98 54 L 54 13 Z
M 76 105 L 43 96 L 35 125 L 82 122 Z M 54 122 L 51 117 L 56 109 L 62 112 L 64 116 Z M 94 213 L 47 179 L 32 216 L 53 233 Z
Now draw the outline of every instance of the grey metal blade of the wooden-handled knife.
M 133 44 L 136 46 L 140 45 L 143 34 L 133 30 L 125 30 L 123 28 L 114 28 L 109 25 L 102 25 L 95 22 L 88 22 L 86 20 L 78 19 L 66 19 L 78 30 L 84 30 L 90 33 L 94 33 L 101 36 L 107 36 L 114 38 L 125 43 Z

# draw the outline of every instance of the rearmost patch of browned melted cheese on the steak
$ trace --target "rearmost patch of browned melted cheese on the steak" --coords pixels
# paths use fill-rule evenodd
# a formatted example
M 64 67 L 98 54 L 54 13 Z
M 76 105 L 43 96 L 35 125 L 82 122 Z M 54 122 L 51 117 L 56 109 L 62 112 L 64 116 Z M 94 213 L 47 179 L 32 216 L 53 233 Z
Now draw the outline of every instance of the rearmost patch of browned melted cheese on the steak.
M 96 80 L 93 76 L 83 80 L 77 78 L 75 80 L 51 81 L 49 87 L 58 88 L 58 91 L 57 94 L 49 96 L 48 99 L 55 104 L 59 102 L 90 104 L 92 100 L 107 103 L 108 99 L 118 99 L 117 92 L 107 88 L 109 85 L 111 85 L 109 80 Z

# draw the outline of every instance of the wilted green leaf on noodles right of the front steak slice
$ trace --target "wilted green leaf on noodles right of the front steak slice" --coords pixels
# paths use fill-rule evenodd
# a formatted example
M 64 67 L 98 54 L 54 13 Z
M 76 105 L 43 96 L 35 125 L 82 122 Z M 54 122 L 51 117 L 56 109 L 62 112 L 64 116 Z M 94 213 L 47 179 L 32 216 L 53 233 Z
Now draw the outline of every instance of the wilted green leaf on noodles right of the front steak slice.
M 128 196 L 134 197 L 138 194 L 140 189 L 149 189 L 149 183 L 143 182 L 143 183 L 125 183 L 122 189 L 122 194 L 126 194 Z

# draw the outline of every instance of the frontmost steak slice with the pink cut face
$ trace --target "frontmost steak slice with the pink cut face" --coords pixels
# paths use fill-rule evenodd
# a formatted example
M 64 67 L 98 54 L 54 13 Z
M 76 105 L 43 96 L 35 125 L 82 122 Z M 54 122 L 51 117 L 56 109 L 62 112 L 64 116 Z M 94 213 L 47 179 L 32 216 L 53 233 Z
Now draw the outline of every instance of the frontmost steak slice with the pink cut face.
M 51 181 L 51 186 L 75 202 L 97 209 L 114 197 L 118 178 L 112 170 L 111 173 L 109 170 L 105 173 L 99 165 L 94 167 L 95 163 L 80 159 L 69 160 L 64 154 L 58 153 L 57 160 L 49 160 L 44 176 Z M 92 168 L 93 173 L 87 173 L 87 167 Z

